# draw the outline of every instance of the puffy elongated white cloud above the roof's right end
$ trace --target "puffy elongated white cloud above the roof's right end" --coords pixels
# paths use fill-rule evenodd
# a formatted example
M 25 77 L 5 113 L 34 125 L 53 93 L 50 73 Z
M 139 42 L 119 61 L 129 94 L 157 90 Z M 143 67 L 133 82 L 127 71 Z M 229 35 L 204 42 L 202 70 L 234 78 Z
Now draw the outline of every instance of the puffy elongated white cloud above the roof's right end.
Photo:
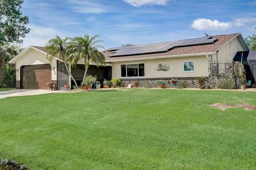
M 197 30 L 226 30 L 231 28 L 232 24 L 231 22 L 199 18 L 193 21 L 191 27 Z

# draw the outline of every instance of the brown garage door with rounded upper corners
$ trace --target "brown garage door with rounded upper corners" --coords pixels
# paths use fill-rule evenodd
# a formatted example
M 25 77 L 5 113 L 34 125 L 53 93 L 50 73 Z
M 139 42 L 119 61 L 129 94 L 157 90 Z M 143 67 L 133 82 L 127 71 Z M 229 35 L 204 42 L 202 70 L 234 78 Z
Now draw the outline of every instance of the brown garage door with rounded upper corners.
M 47 89 L 47 82 L 52 81 L 51 65 L 26 65 L 21 67 L 22 89 Z

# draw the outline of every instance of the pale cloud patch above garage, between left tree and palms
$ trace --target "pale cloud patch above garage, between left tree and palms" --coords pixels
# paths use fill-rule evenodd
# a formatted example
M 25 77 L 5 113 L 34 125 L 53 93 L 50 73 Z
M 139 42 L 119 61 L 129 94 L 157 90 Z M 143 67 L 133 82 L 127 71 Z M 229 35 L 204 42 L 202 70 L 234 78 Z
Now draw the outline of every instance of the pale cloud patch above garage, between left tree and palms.
M 33 46 L 45 46 L 47 41 L 54 38 L 55 35 L 62 36 L 62 33 L 58 30 L 49 27 L 41 27 L 38 25 L 29 25 L 30 32 L 23 39 L 22 47 Z

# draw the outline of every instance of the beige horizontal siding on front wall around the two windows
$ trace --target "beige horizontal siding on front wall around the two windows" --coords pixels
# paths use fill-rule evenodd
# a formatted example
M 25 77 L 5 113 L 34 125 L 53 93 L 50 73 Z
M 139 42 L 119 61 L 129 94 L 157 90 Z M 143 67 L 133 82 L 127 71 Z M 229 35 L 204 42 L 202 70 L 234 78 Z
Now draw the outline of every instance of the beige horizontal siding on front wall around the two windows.
M 183 62 L 195 61 L 194 72 L 184 72 Z M 145 63 L 145 78 L 172 78 L 172 77 L 207 77 L 208 59 L 206 56 L 191 56 L 177 58 L 163 58 L 155 60 L 142 60 L 133 62 L 114 62 L 112 67 L 112 77 L 121 78 L 121 64 Z M 156 71 L 158 64 L 169 64 L 169 71 Z M 134 77 L 133 77 L 134 78 Z

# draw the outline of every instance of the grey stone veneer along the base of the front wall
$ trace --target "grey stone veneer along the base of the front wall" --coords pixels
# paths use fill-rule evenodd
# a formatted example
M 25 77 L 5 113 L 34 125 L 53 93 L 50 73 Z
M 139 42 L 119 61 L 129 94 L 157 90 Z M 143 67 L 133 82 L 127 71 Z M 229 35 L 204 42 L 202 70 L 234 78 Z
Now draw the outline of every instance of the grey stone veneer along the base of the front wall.
M 145 86 L 146 82 L 149 82 L 153 88 L 157 87 L 156 80 L 163 80 L 165 84 L 167 84 L 166 87 L 174 88 L 172 84 L 172 78 L 151 78 L 151 79 L 120 79 L 125 83 L 125 87 L 127 87 L 129 84 L 134 84 L 135 81 L 139 82 L 139 87 Z M 187 80 L 188 81 L 188 88 L 198 88 L 196 84 L 196 78 L 175 78 L 175 80 Z

